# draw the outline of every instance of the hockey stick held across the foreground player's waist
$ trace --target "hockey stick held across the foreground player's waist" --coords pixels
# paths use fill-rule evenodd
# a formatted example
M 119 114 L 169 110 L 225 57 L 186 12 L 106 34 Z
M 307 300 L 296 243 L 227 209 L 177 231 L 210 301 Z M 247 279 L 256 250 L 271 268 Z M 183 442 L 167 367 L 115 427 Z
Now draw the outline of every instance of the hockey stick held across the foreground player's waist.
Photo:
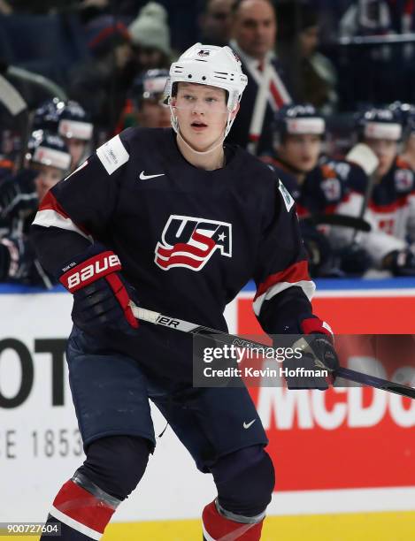
M 264 344 L 261 344 L 260 342 L 243 339 L 240 336 L 227 334 L 227 332 L 217 331 L 216 329 L 210 329 L 209 327 L 204 327 L 203 325 L 192 324 L 188 321 L 178 319 L 177 317 L 164 316 L 163 314 L 153 312 L 152 310 L 142 309 L 136 306 L 133 301 L 130 301 L 130 306 L 133 310 L 134 317 L 140 321 L 145 321 L 150 324 L 163 325 L 169 329 L 173 329 L 174 331 L 189 332 L 190 334 L 197 334 L 207 337 L 214 335 L 215 340 L 227 345 L 235 345 L 239 347 L 264 347 Z M 351 370 L 342 366 L 336 371 L 336 376 L 343 377 L 344 379 L 361 385 L 375 387 L 376 389 L 380 389 L 382 391 L 394 392 L 396 394 L 415 399 L 415 389 L 408 385 L 396 384 L 393 381 L 388 381 L 388 379 L 370 376 L 368 374 L 364 374 L 363 372 L 357 372 L 357 370 Z

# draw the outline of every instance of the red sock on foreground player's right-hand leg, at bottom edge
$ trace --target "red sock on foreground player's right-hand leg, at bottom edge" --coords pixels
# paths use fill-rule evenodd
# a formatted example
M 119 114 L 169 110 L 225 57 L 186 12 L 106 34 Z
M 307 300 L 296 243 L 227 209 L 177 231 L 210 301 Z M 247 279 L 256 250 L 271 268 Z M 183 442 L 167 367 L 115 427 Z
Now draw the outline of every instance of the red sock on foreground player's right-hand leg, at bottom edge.
M 264 518 L 265 511 L 257 516 L 230 513 L 214 499 L 202 514 L 204 541 L 259 541 Z

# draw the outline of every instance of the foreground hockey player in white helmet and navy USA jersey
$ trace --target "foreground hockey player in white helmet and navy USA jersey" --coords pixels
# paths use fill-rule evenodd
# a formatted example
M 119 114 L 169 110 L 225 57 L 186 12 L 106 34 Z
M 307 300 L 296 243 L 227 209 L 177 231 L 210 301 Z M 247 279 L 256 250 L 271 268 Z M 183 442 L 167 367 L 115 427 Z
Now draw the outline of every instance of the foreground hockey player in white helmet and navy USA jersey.
M 155 446 L 149 398 L 213 475 L 206 541 L 257 541 L 271 499 L 273 464 L 247 389 L 193 387 L 189 335 L 139 326 L 130 299 L 226 330 L 226 304 L 253 277 L 263 329 L 314 333 L 321 362 L 337 366 L 312 314 L 294 201 L 268 166 L 224 144 L 245 85 L 228 47 L 192 46 L 170 70 L 173 130 L 117 135 L 35 218 L 42 264 L 73 293 L 67 362 L 87 459 L 50 510 L 65 541 L 99 538 L 139 483 Z M 308 385 L 327 388 L 321 377 Z

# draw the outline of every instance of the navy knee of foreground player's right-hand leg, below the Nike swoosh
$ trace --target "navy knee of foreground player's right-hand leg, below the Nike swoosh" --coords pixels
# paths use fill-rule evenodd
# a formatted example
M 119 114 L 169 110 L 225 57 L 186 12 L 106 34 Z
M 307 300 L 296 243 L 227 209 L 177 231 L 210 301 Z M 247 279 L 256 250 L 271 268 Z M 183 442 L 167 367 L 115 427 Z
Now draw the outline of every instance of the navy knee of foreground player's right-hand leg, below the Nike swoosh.
M 221 507 L 235 514 L 261 514 L 271 501 L 275 474 L 263 446 L 250 446 L 219 459 L 211 469 Z

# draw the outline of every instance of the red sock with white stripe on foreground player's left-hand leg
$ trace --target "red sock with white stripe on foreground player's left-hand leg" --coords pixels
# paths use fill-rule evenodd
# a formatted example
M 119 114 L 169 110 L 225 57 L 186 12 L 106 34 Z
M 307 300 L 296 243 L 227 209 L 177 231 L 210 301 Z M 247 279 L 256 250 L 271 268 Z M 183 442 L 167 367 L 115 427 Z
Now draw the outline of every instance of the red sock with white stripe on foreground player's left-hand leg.
M 119 499 L 76 472 L 58 491 L 48 520 L 61 523 L 62 541 L 100 539 L 119 503 Z

